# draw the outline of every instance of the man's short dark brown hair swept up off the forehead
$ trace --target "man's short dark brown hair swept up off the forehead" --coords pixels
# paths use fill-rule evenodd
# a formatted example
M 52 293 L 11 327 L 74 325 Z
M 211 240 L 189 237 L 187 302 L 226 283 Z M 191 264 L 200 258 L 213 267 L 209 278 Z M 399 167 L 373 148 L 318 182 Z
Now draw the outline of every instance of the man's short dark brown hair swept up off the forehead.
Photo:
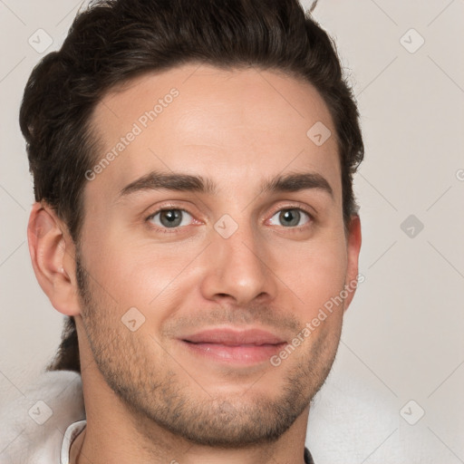
M 192 62 L 274 69 L 314 85 L 336 130 L 346 227 L 358 212 L 359 114 L 332 40 L 298 0 L 97 0 L 76 16 L 62 48 L 34 67 L 20 111 L 35 200 L 56 211 L 73 241 L 84 217 L 85 172 L 98 158 L 89 123 L 96 104 L 117 84 Z M 77 350 L 71 319 L 53 369 L 79 371 L 78 352 L 76 362 L 63 356 L 73 340 Z

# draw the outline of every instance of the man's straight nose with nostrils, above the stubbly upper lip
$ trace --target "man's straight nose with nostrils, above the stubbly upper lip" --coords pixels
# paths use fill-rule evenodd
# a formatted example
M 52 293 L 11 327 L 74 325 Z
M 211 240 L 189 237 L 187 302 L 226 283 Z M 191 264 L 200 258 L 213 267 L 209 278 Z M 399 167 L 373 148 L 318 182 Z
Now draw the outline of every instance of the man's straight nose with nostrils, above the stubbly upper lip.
M 272 256 L 258 232 L 241 225 L 230 237 L 222 237 L 216 230 L 211 235 L 200 285 L 205 298 L 237 305 L 275 298 Z

